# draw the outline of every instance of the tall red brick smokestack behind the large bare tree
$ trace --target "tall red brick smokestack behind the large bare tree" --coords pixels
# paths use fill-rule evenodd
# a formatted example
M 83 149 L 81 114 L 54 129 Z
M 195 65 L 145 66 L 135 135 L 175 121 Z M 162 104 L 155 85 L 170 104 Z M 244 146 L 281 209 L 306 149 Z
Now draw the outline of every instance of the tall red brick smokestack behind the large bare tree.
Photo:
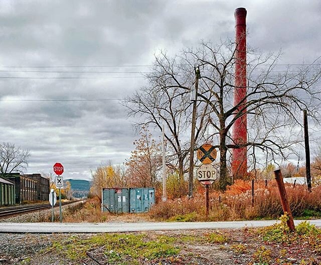
M 234 12 L 235 17 L 235 41 L 236 41 L 236 64 L 235 64 L 235 90 L 234 106 L 240 104 L 241 110 L 246 104 L 246 9 L 238 8 Z M 241 103 L 240 103 L 241 102 Z M 246 112 L 246 110 L 244 110 Z M 247 142 L 247 119 L 246 115 L 237 119 L 233 125 L 232 138 L 234 143 Z M 233 149 L 232 174 L 233 178 L 242 178 L 247 172 L 246 147 Z

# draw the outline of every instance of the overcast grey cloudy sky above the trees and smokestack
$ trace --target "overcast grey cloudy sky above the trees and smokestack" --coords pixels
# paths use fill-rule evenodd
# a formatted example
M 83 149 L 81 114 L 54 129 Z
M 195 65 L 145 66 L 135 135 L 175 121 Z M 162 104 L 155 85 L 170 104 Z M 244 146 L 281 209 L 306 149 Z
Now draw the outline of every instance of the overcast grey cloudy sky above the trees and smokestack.
M 282 49 L 284 64 L 321 56 L 318 0 L 0 1 L 1 142 L 30 150 L 28 173 L 61 162 L 65 178 L 88 179 L 124 162 L 137 135 L 119 100 L 144 85 L 159 49 L 233 39 L 239 7 L 248 45 Z M 105 101 L 22 101 L 91 99 Z

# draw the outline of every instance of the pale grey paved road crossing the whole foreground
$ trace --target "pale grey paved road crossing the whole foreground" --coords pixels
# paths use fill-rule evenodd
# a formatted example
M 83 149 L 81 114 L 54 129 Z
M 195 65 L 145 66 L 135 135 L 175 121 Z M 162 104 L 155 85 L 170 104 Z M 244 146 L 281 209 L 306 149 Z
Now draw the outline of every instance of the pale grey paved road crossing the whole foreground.
M 152 230 L 187 230 L 262 227 L 275 223 L 268 221 L 231 221 L 231 222 L 134 222 L 134 223 L 1 223 L 0 232 L 14 233 L 98 233 L 133 232 Z M 295 224 L 301 220 L 295 220 Z M 321 227 L 321 219 L 310 220 Z

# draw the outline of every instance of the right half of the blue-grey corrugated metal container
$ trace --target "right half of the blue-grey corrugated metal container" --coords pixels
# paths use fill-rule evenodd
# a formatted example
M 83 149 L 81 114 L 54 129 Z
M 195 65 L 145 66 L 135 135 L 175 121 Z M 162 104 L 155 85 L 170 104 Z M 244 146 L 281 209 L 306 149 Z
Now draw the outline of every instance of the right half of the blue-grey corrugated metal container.
M 129 188 L 129 210 L 132 213 L 149 211 L 155 203 L 154 188 Z

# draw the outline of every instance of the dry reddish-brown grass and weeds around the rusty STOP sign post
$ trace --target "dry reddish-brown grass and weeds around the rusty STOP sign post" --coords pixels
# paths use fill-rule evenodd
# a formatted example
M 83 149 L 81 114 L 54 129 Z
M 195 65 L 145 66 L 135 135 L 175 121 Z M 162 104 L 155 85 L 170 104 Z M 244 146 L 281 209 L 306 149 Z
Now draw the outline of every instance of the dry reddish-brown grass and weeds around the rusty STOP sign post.
M 293 216 L 304 216 L 307 210 L 321 212 L 321 186 L 308 192 L 304 186 L 293 188 L 287 184 L 286 190 Z M 173 221 L 268 219 L 277 218 L 281 214 L 282 206 L 274 181 L 267 187 L 263 181 L 255 183 L 253 206 L 250 182 L 236 181 L 235 186 L 229 187 L 225 193 L 211 193 L 209 218 L 205 216 L 204 193 L 198 193 L 190 200 L 184 197 L 160 202 L 149 211 L 153 219 Z

